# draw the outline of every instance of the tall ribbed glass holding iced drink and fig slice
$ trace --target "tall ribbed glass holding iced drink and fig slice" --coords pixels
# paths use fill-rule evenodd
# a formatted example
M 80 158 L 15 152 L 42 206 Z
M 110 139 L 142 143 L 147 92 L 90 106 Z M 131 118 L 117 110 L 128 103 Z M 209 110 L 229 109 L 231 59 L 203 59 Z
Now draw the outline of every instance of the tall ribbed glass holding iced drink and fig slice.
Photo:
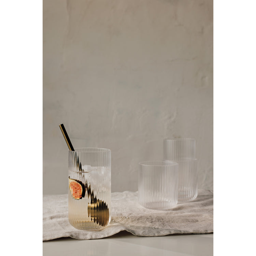
M 111 219 L 111 151 L 69 151 L 69 223 L 77 229 L 100 230 Z

